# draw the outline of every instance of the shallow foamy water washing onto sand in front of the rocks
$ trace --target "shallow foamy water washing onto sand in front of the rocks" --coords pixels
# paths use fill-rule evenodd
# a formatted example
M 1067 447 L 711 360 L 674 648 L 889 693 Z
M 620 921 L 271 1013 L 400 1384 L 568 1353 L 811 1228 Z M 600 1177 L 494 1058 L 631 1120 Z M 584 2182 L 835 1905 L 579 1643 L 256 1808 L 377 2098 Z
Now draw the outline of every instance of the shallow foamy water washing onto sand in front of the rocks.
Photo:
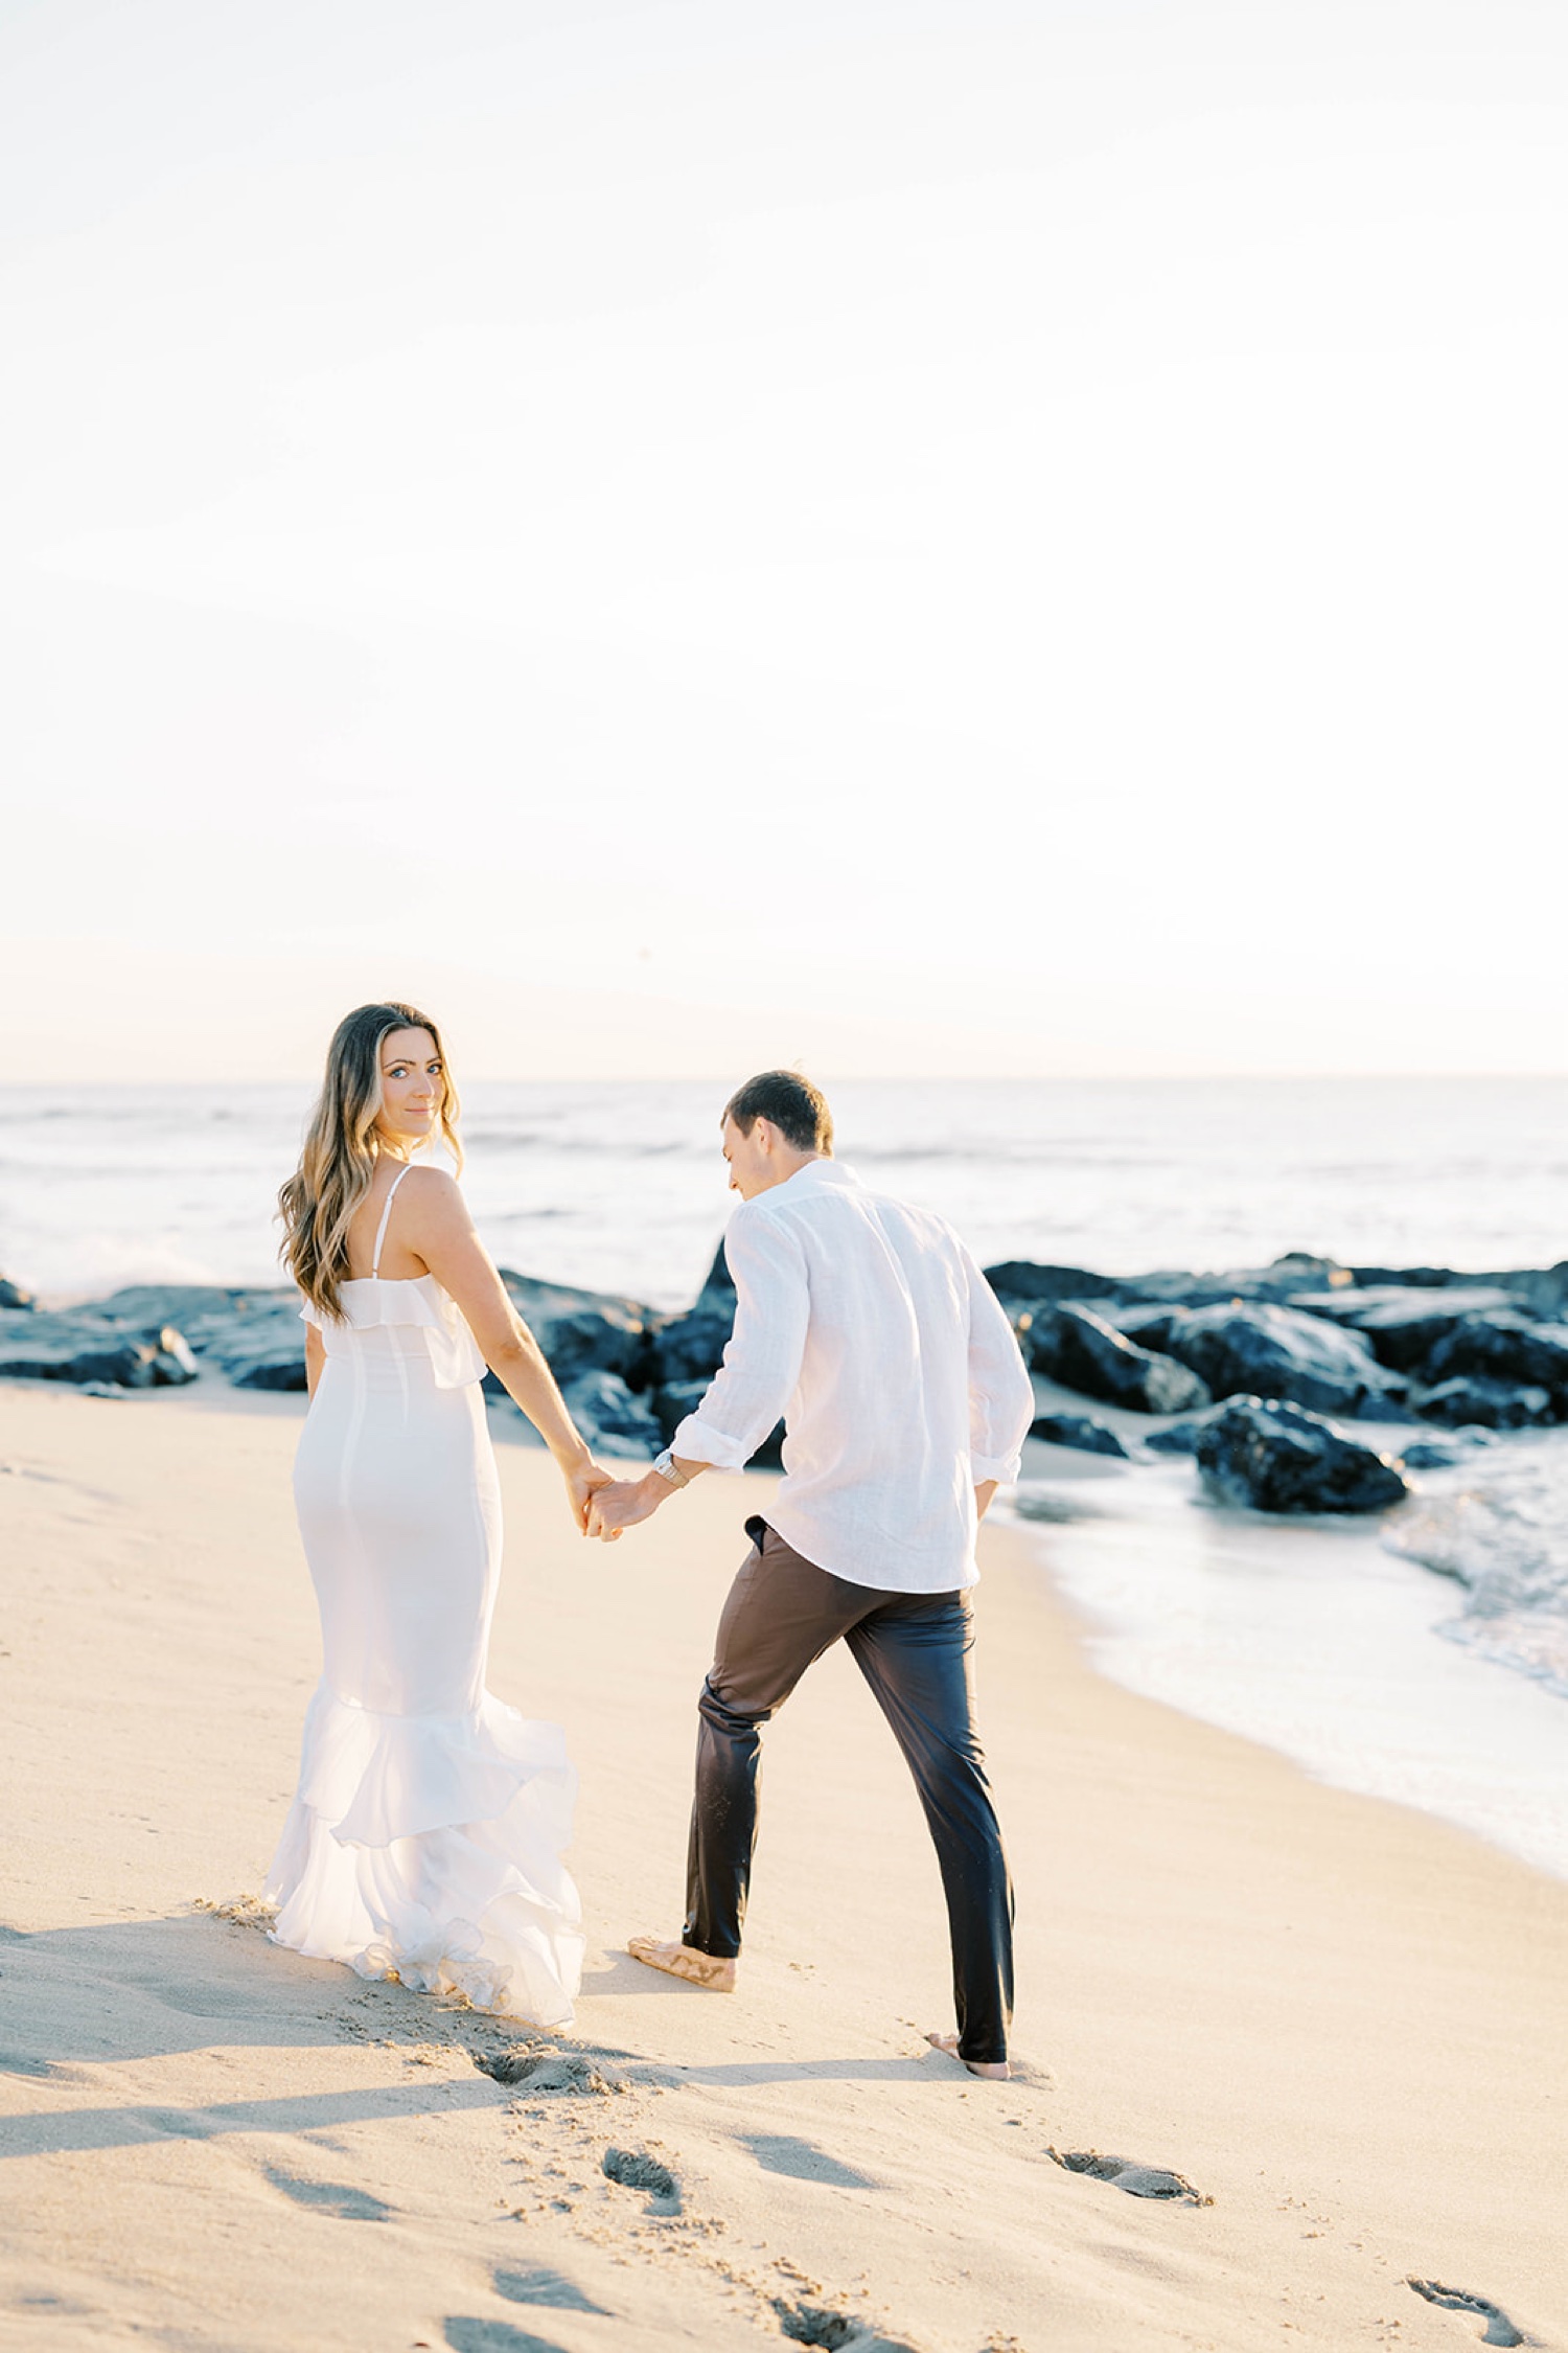
M 1098 1673 L 1568 1880 L 1566 1704 L 1443 1638 L 1450 1579 L 1378 1529 L 1201 1504 L 1171 1466 L 1037 1459 L 1020 1497 L 1009 1522 Z

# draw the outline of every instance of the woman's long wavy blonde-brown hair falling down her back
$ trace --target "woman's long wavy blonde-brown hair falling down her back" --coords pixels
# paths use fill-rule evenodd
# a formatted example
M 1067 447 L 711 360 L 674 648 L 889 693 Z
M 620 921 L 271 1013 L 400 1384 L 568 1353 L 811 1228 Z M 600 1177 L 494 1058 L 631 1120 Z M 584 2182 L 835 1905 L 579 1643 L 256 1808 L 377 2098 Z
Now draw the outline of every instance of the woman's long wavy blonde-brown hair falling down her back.
M 458 1092 L 447 1071 L 442 1033 L 416 1005 L 355 1005 L 331 1033 L 327 1078 L 310 1113 L 299 1167 L 277 1195 L 284 1261 L 306 1299 L 341 1318 L 339 1285 L 348 1282 L 348 1228 L 376 1174 L 381 1113 L 381 1040 L 397 1028 L 423 1028 L 442 1061 L 440 1136 L 463 1167 Z

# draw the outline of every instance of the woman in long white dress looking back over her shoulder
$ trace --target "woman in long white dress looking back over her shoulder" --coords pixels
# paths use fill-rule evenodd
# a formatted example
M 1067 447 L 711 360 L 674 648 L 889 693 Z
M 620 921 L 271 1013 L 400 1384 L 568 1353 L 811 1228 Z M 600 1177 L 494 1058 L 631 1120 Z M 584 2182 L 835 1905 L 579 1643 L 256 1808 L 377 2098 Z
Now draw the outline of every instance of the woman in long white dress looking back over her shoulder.
M 578 1897 L 559 1854 L 576 1774 L 555 1725 L 484 1689 L 501 1494 L 484 1365 L 536 1424 L 578 1527 L 607 1485 L 456 1179 L 440 1031 L 411 1005 L 339 1024 L 280 1193 L 306 1294 L 310 1412 L 294 1466 L 324 1673 L 268 1875 L 277 1944 L 571 2024 Z

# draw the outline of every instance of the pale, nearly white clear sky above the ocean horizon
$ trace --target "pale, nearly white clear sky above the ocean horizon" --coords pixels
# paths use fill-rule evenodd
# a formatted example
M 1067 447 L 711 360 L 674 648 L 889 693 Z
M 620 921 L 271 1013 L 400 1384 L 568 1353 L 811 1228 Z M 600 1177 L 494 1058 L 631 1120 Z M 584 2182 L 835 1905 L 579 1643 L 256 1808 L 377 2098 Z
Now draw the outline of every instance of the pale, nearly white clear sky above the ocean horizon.
M 1561 0 L 0 0 L 0 1075 L 1561 1071 Z

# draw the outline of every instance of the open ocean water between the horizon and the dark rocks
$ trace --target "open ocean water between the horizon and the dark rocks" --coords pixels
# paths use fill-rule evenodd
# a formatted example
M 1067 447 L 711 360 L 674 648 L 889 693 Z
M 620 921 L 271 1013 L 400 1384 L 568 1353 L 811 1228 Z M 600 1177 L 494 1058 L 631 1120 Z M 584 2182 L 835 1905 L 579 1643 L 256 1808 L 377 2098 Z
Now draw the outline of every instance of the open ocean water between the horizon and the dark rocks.
M 983 1261 L 1103 1273 L 1568 1257 L 1568 1080 L 858 1082 L 839 1155 Z M 731 1207 L 722 1087 L 473 1085 L 465 1186 L 522 1273 L 691 1299 Z M 12 1087 L 0 1273 L 49 1299 L 275 1280 L 306 1087 Z

